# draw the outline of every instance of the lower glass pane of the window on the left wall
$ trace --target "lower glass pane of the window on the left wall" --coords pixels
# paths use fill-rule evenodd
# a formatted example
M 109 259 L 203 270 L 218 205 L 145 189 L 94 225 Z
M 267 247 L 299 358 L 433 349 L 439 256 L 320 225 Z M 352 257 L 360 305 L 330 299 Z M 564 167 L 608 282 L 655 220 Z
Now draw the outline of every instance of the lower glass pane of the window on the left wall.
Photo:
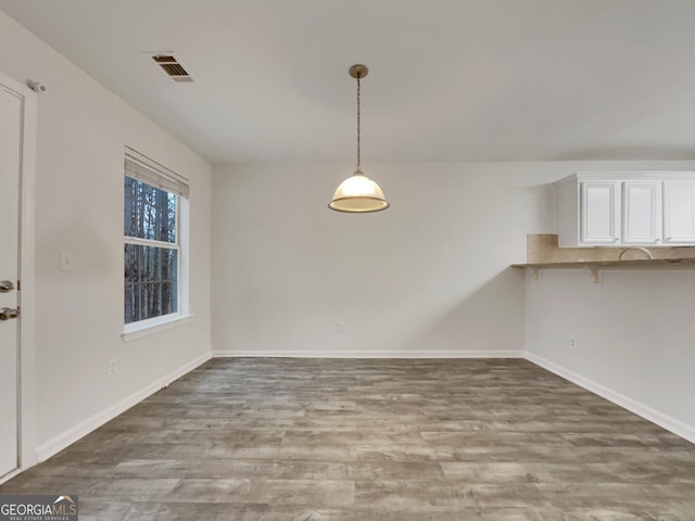
M 125 245 L 125 323 L 178 312 L 178 251 Z

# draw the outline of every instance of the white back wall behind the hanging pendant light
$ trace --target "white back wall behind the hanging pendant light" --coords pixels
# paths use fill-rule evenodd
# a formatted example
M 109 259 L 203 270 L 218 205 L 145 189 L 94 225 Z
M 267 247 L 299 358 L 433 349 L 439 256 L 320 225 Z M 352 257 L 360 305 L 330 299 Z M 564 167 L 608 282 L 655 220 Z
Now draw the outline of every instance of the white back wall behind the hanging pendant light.
M 391 208 L 327 208 L 350 165 L 214 169 L 213 351 L 313 356 L 522 354 L 526 234 L 554 168 L 366 165 Z M 339 334 L 337 322 L 345 321 Z

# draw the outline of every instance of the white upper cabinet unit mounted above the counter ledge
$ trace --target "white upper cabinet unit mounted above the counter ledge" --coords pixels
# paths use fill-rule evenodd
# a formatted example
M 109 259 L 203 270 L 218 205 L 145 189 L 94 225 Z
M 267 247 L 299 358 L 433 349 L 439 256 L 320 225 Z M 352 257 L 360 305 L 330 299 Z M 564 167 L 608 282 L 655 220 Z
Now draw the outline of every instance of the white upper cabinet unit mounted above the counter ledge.
M 555 183 L 560 247 L 695 245 L 695 173 L 579 173 Z

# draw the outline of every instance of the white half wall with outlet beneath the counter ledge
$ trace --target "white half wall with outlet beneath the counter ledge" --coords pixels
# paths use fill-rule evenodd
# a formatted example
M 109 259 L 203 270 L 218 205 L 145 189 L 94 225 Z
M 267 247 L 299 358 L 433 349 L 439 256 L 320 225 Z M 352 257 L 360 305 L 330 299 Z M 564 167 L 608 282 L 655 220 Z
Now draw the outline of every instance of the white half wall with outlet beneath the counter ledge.
M 695 272 L 541 272 L 526 288 L 530 359 L 695 443 Z M 569 348 L 569 338 L 578 348 Z

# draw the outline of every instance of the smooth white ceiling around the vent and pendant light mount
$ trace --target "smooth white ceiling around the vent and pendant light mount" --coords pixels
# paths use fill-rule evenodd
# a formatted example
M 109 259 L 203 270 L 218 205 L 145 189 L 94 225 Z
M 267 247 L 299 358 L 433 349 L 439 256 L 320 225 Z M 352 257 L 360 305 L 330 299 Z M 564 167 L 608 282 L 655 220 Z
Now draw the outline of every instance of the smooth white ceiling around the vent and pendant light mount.
M 0 0 L 0 10 L 212 163 L 354 161 L 354 63 L 370 69 L 365 164 L 695 158 L 693 0 Z M 172 81 L 148 54 L 159 51 L 194 81 Z

